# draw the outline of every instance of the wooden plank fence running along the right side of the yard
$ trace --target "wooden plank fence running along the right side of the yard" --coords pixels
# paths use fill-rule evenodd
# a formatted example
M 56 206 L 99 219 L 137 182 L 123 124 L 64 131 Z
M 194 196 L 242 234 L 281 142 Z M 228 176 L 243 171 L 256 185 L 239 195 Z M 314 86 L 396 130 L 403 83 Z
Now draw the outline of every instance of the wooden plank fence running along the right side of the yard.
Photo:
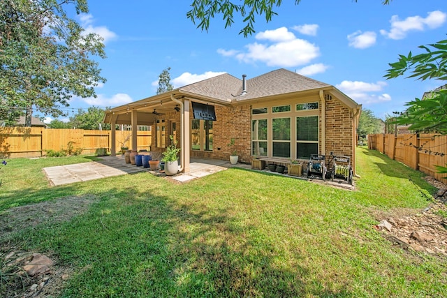
M 401 134 L 368 135 L 368 148 L 380 151 L 414 170 L 429 174 L 446 183 L 446 174 L 439 174 L 435 165 L 446 167 L 447 135 Z

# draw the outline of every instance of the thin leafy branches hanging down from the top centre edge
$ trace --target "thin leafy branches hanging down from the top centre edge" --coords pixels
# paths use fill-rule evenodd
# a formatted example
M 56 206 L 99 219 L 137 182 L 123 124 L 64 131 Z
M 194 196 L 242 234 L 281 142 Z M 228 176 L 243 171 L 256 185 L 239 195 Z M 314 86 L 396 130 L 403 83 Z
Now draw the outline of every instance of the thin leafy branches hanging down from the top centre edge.
M 389 4 L 390 1 L 382 0 L 382 3 Z M 299 3 L 300 0 L 295 0 L 295 5 Z M 186 13 L 186 17 L 194 24 L 198 24 L 197 28 L 208 31 L 208 28 L 210 28 L 210 19 L 214 18 L 214 15 L 223 15 L 226 28 L 234 23 L 235 13 L 239 13 L 242 17 L 242 22 L 245 24 L 245 27 L 241 29 L 240 33 L 244 34 L 244 37 L 247 37 L 255 32 L 254 23 L 256 15 L 264 15 L 265 22 L 270 22 L 272 16 L 277 15 L 273 11 L 274 6 L 279 7 L 281 4 L 282 0 L 193 0 L 191 3 L 192 9 Z

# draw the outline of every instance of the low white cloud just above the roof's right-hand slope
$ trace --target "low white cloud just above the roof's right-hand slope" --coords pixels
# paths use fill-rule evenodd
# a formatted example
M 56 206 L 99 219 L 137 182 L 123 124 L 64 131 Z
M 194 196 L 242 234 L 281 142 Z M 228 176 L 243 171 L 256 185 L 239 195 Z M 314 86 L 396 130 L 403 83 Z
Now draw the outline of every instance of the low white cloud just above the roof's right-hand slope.
M 357 103 L 383 103 L 391 100 L 391 96 L 381 93 L 386 82 L 367 83 L 360 81 L 343 81 L 335 87 L 344 92 L 347 96 L 356 100 Z

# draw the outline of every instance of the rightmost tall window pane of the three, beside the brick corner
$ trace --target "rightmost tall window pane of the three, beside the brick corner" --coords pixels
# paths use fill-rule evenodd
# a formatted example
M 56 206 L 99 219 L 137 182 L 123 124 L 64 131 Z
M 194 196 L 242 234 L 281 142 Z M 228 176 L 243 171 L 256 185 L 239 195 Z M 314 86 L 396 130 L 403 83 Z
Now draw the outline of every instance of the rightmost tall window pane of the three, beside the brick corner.
M 318 154 L 318 116 L 296 118 L 296 158 Z

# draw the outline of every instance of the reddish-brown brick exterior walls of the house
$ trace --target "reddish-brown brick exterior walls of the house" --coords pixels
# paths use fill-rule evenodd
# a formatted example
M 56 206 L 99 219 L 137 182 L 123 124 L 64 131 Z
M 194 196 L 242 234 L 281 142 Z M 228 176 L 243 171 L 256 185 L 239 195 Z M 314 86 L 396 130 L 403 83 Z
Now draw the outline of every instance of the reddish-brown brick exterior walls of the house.
M 322 124 L 322 105 L 320 105 L 319 125 Z M 228 147 L 230 140 L 235 139 L 235 147 L 239 156 L 239 162 L 251 163 L 251 105 L 239 105 L 235 107 L 215 107 L 217 121 L 213 124 L 213 151 L 191 150 L 191 158 L 214 158 L 228 161 L 233 148 Z M 325 152 L 320 152 L 326 157 L 332 151 L 335 155 L 353 157 L 353 120 L 352 112 L 337 98 L 325 94 Z M 179 142 L 180 113 L 169 112 L 164 115 L 166 119 L 166 144 L 168 144 L 168 125 L 170 121 L 177 123 L 177 141 Z M 190 120 L 193 113 L 190 113 Z M 295 125 L 292 121 L 292 125 Z M 322 147 L 322 130 L 319 129 L 320 150 Z M 152 151 L 161 154 L 164 149 L 157 149 L 156 124 L 152 126 Z M 294 145 L 294 144 L 292 144 Z M 326 158 L 328 161 L 328 158 Z M 351 162 L 351 165 L 353 163 Z

